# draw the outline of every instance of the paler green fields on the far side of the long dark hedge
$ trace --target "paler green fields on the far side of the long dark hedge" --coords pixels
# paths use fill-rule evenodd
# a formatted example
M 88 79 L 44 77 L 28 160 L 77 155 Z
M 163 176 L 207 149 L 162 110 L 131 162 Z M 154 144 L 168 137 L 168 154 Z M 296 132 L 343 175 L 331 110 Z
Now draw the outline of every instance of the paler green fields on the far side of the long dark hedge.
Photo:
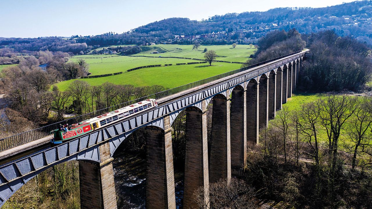
M 107 47 L 106 47 L 107 48 Z M 155 65 L 155 64 L 176 64 L 184 62 L 197 62 L 195 60 L 185 60 L 177 58 L 159 58 L 161 57 L 185 57 L 204 59 L 204 48 L 208 50 L 215 50 L 217 57 L 216 60 L 232 61 L 232 62 L 245 62 L 248 57 L 253 54 L 256 49 L 249 49 L 248 45 L 237 45 L 232 48 L 231 45 L 202 45 L 198 50 L 192 50 L 192 45 L 152 45 L 141 46 L 142 52 L 135 55 L 145 55 L 150 57 L 128 57 L 119 55 L 77 55 L 71 58 L 71 61 L 79 59 L 86 60 L 89 63 L 89 72 L 91 75 L 102 75 L 108 73 L 117 73 L 126 71 L 130 68 Z M 160 50 L 159 50 L 160 49 Z M 160 54 L 151 54 L 154 51 L 163 51 Z

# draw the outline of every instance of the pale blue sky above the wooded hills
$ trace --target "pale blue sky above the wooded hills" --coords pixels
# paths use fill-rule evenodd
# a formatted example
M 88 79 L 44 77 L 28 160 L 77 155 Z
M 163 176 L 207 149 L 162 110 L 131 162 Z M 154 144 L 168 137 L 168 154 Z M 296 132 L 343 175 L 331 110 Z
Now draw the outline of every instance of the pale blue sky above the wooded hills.
M 169 17 L 207 19 L 275 7 L 325 7 L 353 0 L 0 0 L 0 37 L 122 33 Z

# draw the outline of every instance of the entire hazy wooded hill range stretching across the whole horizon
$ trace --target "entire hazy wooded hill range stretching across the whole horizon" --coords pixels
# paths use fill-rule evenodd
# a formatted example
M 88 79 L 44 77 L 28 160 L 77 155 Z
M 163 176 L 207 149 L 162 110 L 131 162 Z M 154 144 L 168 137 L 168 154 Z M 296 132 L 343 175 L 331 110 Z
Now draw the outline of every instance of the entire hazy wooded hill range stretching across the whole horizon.
M 195 40 L 202 44 L 255 44 L 271 30 L 291 28 L 300 33 L 332 29 L 341 36 L 355 36 L 372 45 L 372 1 L 354 1 L 324 8 L 275 8 L 266 12 L 228 13 L 203 21 L 173 17 L 122 34 L 71 36 L 69 40 L 56 37 L 0 38 L 0 49 L 6 46 L 17 52 L 49 49 L 81 54 L 100 46 L 119 44 L 192 44 Z

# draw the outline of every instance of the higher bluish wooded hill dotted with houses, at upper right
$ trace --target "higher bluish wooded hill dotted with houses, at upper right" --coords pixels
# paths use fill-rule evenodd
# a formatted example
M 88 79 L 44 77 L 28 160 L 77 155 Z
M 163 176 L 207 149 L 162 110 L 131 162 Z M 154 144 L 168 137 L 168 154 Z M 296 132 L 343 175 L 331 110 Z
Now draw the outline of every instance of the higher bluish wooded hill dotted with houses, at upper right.
M 149 37 L 173 38 L 173 35 L 225 31 L 238 33 L 227 38 L 241 42 L 245 38 L 259 38 L 264 35 L 262 32 L 269 30 L 291 28 L 296 28 L 300 33 L 334 29 L 341 36 L 372 38 L 372 1 L 354 1 L 323 8 L 275 8 L 266 12 L 228 13 L 202 22 L 169 18 L 138 27 L 134 32 L 145 33 Z M 255 34 L 250 34 L 251 31 Z

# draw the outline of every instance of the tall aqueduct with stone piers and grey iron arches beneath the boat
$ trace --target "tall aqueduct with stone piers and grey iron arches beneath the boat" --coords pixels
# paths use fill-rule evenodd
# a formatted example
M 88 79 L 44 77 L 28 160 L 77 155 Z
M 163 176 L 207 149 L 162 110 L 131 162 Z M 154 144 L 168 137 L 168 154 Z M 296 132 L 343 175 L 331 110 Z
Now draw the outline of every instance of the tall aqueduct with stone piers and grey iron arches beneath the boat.
M 79 161 L 81 208 L 115 209 L 113 154 L 134 131 L 147 131 L 146 208 L 176 208 L 171 125 L 186 110 L 184 208 L 209 183 L 231 179 L 247 161 L 247 144 L 259 143 L 259 127 L 275 117 L 298 83 L 307 50 L 264 63 L 158 99 L 159 106 L 134 118 L 92 132 L 0 167 L 0 206 L 49 167 Z M 206 109 L 213 100 L 210 157 Z

